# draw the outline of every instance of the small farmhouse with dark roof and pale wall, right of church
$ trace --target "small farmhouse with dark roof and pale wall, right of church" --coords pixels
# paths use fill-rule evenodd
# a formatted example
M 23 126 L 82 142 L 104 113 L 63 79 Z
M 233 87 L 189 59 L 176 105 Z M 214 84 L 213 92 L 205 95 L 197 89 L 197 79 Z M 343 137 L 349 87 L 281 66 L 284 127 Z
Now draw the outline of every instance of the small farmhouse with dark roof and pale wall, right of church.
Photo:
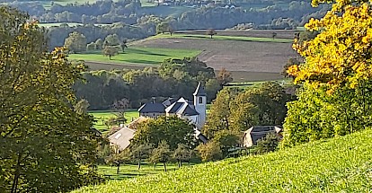
M 275 133 L 279 139 L 281 136 L 282 128 L 276 126 L 255 126 L 250 127 L 248 130 L 243 133 L 243 146 L 250 147 L 252 145 L 257 145 L 257 141 L 265 137 L 268 133 Z

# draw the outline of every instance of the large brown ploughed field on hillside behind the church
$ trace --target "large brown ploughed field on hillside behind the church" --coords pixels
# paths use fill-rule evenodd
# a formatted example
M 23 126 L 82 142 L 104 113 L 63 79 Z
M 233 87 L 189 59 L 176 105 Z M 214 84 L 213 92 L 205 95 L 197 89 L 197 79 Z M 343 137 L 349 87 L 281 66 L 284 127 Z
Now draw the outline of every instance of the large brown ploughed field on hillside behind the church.
M 185 32 L 185 31 L 182 31 Z M 281 38 L 294 31 L 276 31 Z M 188 33 L 204 33 L 188 31 Z M 218 35 L 268 38 L 272 31 L 218 31 Z M 297 57 L 291 43 L 256 42 L 214 39 L 146 39 L 132 44 L 137 47 L 185 48 L 203 50 L 199 59 L 208 66 L 220 70 L 225 67 L 232 72 L 234 81 L 277 80 L 290 57 Z

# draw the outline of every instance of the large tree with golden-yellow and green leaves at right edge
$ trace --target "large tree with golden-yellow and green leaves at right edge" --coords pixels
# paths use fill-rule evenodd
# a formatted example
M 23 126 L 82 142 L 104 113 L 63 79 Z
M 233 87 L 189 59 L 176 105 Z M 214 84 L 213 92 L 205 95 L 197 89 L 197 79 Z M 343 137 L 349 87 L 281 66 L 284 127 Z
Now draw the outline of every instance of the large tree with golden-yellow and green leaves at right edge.
M 294 48 L 305 63 L 288 74 L 303 83 L 298 101 L 288 102 L 283 145 L 342 136 L 371 126 L 372 11 L 367 1 L 318 1 L 332 10 L 306 24 L 320 33 Z

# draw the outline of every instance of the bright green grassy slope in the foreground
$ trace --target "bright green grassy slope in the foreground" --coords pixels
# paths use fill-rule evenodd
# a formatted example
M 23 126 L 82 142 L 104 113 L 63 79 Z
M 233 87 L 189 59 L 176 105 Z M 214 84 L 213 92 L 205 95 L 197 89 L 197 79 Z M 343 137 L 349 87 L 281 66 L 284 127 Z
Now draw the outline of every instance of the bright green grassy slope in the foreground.
M 77 192 L 370 192 L 372 130 Z

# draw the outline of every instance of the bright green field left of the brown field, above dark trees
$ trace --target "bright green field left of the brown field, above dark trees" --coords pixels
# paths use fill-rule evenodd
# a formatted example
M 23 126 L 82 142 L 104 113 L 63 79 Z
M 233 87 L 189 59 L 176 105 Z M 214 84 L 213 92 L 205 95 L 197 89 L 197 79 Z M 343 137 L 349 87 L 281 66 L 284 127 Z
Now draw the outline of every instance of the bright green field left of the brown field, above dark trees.
M 104 57 L 102 53 L 71 54 L 70 60 L 85 60 L 95 62 L 117 63 L 117 64 L 146 64 L 148 66 L 159 65 L 167 58 L 195 57 L 201 51 L 197 49 L 172 49 L 172 48 L 145 48 L 130 47 L 117 56 Z

